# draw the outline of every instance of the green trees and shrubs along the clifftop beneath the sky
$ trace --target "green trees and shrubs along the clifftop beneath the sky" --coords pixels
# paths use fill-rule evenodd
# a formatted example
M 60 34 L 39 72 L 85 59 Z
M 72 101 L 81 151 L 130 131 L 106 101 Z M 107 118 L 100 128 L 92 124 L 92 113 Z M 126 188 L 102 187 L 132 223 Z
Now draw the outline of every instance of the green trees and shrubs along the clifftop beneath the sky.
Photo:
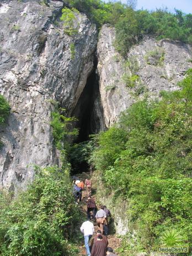
M 175 14 L 167 9 L 134 10 L 131 5 L 102 0 L 67 0 L 70 8 L 86 13 L 98 28 L 105 23 L 115 26 L 116 50 L 126 56 L 130 47 L 143 38 L 153 35 L 157 39 L 173 39 L 192 44 L 192 14 L 184 14 L 175 10 Z M 71 14 L 72 15 L 72 14 Z

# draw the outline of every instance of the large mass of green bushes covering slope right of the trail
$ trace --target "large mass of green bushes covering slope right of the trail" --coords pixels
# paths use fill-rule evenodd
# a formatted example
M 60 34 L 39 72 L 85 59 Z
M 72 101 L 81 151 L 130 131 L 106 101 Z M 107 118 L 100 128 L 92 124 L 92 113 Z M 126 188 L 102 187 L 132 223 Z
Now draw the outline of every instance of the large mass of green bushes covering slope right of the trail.
M 91 157 L 114 204 L 119 197 L 129 204 L 130 232 L 136 231 L 140 251 L 155 250 L 167 230 L 167 243 L 179 237 L 192 246 L 192 70 L 179 86 L 162 92 L 160 102 L 132 105 L 118 125 L 99 135 Z M 122 255 L 134 254 L 131 240 L 125 244 Z

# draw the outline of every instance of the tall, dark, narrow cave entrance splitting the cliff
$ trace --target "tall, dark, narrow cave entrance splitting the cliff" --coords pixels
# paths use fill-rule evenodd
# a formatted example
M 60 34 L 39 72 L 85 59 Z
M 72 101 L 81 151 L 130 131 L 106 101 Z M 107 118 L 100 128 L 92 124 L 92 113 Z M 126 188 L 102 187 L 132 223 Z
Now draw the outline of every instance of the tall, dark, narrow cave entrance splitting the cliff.
M 76 127 L 79 129 L 79 135 L 77 140 L 74 141 L 74 149 L 71 153 L 72 174 L 88 172 L 89 165 L 85 159 L 83 160 L 82 152 L 87 150 L 86 145 L 89 142 L 89 135 L 98 134 L 99 131 L 104 130 L 96 58 L 93 71 L 87 78 L 86 86 L 72 112 L 72 116 L 78 119 Z

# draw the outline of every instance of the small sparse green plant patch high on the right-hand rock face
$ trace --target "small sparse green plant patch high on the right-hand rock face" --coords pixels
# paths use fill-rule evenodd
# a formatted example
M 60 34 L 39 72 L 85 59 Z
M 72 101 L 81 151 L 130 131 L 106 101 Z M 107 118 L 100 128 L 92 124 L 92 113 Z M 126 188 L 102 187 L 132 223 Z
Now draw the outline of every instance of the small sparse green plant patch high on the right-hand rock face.
M 163 66 L 164 55 L 164 49 L 156 47 L 153 51 L 147 52 L 145 59 L 148 65 Z

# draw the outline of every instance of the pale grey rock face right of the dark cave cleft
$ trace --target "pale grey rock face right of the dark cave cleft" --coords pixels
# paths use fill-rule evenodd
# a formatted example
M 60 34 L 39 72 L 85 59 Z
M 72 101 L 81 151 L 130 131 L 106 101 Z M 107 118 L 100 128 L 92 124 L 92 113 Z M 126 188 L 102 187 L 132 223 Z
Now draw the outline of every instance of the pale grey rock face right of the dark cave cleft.
M 159 97 L 161 90 L 177 89 L 177 83 L 191 67 L 189 60 L 192 58 L 189 45 L 148 37 L 132 47 L 124 61 L 115 52 L 114 40 L 114 28 L 104 25 L 97 54 L 100 95 L 107 127 L 146 92 L 149 97 Z

